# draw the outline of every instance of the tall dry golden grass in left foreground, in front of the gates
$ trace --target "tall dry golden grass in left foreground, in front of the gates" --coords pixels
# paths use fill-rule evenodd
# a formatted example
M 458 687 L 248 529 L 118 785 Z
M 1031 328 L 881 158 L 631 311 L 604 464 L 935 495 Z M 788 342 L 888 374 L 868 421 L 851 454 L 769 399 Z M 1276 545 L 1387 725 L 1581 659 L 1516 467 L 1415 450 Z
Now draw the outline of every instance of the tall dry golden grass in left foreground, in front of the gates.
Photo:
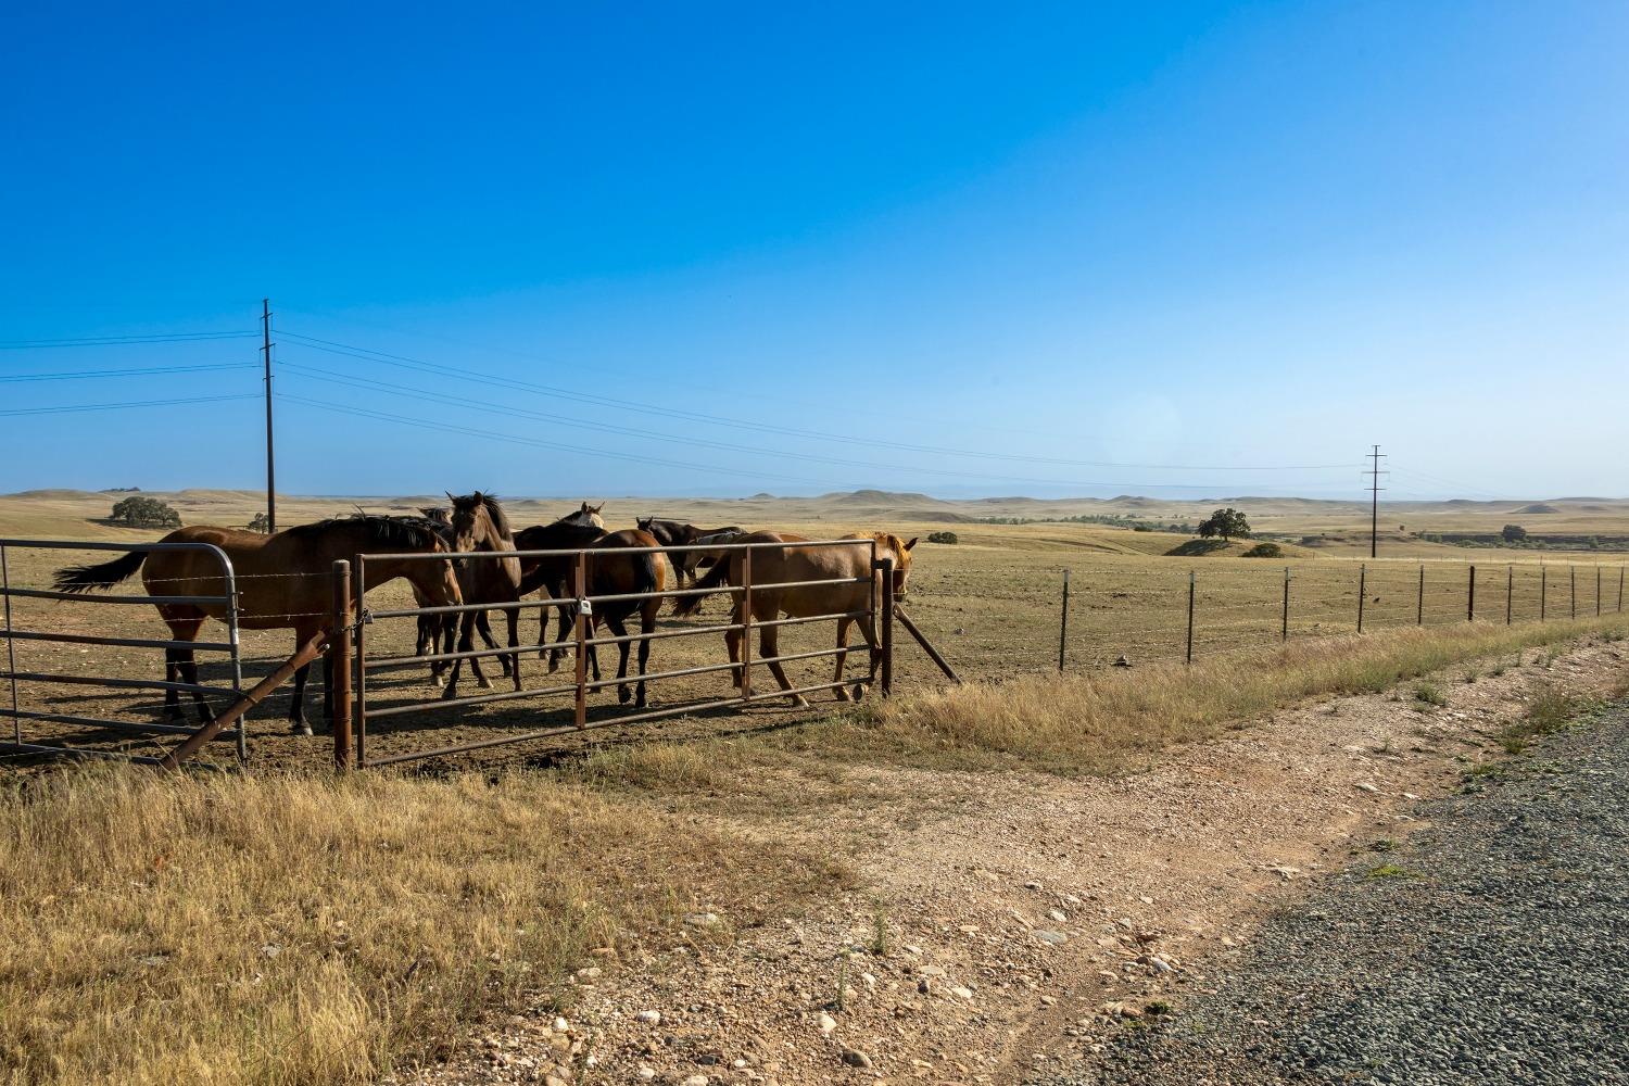
M 7 1083 L 375 1081 L 547 998 L 588 948 L 832 876 L 536 773 L 96 769 L 7 793 Z

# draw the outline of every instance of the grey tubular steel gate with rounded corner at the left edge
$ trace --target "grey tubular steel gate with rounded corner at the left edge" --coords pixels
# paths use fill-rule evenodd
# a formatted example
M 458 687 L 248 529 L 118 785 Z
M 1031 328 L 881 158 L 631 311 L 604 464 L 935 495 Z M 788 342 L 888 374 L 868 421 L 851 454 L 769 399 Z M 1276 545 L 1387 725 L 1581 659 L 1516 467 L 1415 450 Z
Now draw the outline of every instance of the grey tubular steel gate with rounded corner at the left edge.
M 117 550 L 117 552 L 160 552 L 160 550 L 197 550 L 210 555 L 220 563 L 220 586 L 218 594 L 210 596 L 148 596 L 148 594 L 104 594 L 104 593 L 62 593 L 44 588 L 16 588 L 11 581 L 15 578 L 15 557 L 18 552 L 29 550 Z M 67 739 L 96 739 L 96 733 L 125 733 L 125 734 L 179 734 L 179 736 L 195 736 L 199 731 L 197 725 L 186 723 L 156 723 L 142 720 L 114 720 L 111 716 L 94 715 L 103 710 L 101 707 L 86 708 L 85 712 L 46 712 L 42 708 L 24 708 L 24 705 L 33 705 L 33 702 L 24 697 L 24 690 L 20 684 L 37 684 L 41 687 L 96 687 L 103 690 L 165 690 L 166 694 L 174 692 L 179 695 L 202 694 L 202 695 L 218 695 L 231 694 L 231 703 L 243 702 L 243 664 L 239 656 L 238 643 L 238 583 L 236 575 L 231 568 L 231 558 L 215 545 L 200 542 L 85 542 L 85 541 L 65 541 L 65 539 L 0 539 L 0 598 L 3 598 L 5 611 L 5 671 L 0 672 L 10 687 L 8 705 L 0 705 L 0 716 L 11 718 L 11 734 L 0 741 L 0 751 L 11 751 L 18 754 L 55 754 L 55 755 L 91 755 L 91 757 L 119 757 L 134 762 L 150 762 L 161 764 L 165 759 L 135 755 L 127 751 L 106 751 L 85 746 L 70 746 Z M 21 604 L 13 604 L 13 601 L 59 601 L 59 602 L 75 602 L 81 606 L 90 606 L 96 612 L 91 628 L 98 632 L 90 633 L 68 633 L 62 630 L 44 630 L 44 628 L 21 628 L 18 625 Z M 116 614 L 119 607 L 135 604 L 138 607 L 153 607 L 163 604 L 174 606 L 199 606 L 199 607 L 222 607 L 225 611 L 226 624 L 226 640 L 225 642 L 173 642 L 158 640 L 145 637 L 114 637 L 103 633 L 109 627 L 119 628 Z M 103 620 L 103 612 L 108 620 Z M 52 615 L 60 619 L 60 615 Z M 192 650 L 199 653 L 222 653 L 230 666 L 230 685 L 223 684 L 205 684 L 205 682 L 182 682 L 181 674 L 166 674 L 163 681 L 153 677 L 127 677 L 127 676 L 109 676 L 109 674 L 73 674 L 64 658 L 64 650 L 52 653 L 47 663 L 41 663 L 36 668 L 24 668 L 18 664 L 20 653 L 28 656 L 29 651 L 39 651 L 42 646 L 55 645 L 83 645 L 83 646 L 112 646 L 112 648 L 138 648 L 138 650 Z M 88 651 L 88 650 L 80 650 Z M 28 663 L 24 659 L 24 663 Z M 151 661 L 151 658 L 143 658 L 142 666 Z M 155 668 L 156 671 L 156 668 Z M 33 690 L 29 690 L 33 692 Z M 85 700 L 94 695 L 86 695 Z M 60 698 L 57 698 L 60 700 Z M 78 708 L 78 705 L 75 705 Z M 50 736 L 24 736 L 23 723 L 49 723 L 55 725 L 54 734 Z M 248 755 L 248 734 L 244 729 L 244 721 L 241 716 L 236 718 L 236 726 L 230 729 L 218 729 L 213 733 L 215 738 L 231 739 L 236 742 L 238 760 L 241 762 Z M 57 739 L 52 742 L 49 739 Z

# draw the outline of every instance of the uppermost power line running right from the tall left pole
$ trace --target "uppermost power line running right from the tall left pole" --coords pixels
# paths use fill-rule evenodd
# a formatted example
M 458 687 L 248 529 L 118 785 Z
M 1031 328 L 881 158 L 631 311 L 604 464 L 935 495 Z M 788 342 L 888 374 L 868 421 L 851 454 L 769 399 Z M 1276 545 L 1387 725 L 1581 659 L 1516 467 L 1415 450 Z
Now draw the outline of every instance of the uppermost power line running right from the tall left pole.
M 933 444 L 914 444 L 909 441 L 888 441 L 881 438 L 857 438 L 842 433 L 826 433 L 821 430 L 801 430 L 797 427 L 777 427 L 771 423 L 761 423 L 749 418 L 728 418 L 723 415 L 709 415 L 702 412 L 691 412 L 674 407 L 660 407 L 656 404 L 642 404 L 637 401 L 622 401 L 609 396 L 596 396 L 591 392 L 577 392 L 572 389 L 564 389 L 559 386 L 536 384 L 531 381 L 520 381 L 515 378 L 500 378 L 495 374 L 485 374 L 472 371 L 463 366 L 448 366 L 443 363 L 425 361 L 422 358 L 409 358 L 406 355 L 394 355 L 389 352 L 373 350 L 368 347 L 355 347 L 352 344 L 339 344 L 336 340 L 318 339 L 314 335 L 303 335 L 300 332 L 283 331 L 285 339 L 296 340 L 298 345 L 310 347 L 311 350 L 321 350 L 331 355 L 340 355 L 345 358 L 357 358 L 360 361 L 371 361 L 375 365 L 388 365 L 406 370 L 417 370 L 420 373 L 432 373 L 443 378 L 456 378 L 461 381 L 474 381 L 477 384 L 490 384 L 495 388 L 505 388 L 521 392 L 534 392 L 539 396 L 552 396 L 559 399 L 567 399 L 580 404 L 591 404 L 595 407 L 611 407 L 616 410 L 627 410 L 642 415 L 656 415 L 663 418 L 679 418 L 684 422 L 699 422 L 712 427 L 731 427 L 736 430 L 749 430 L 754 433 L 772 433 L 782 436 L 795 438 L 811 438 L 818 441 L 839 441 L 842 444 L 865 444 L 872 448 L 896 449 L 904 453 L 927 453 L 933 456 L 966 456 L 976 459 L 997 459 L 997 461 L 1016 461 L 1030 464 L 1057 464 L 1067 467 L 1139 467 L 1147 471 L 1326 471 L 1336 467 L 1350 467 L 1350 464 L 1277 464 L 1277 466 L 1209 466 L 1209 464 L 1127 464 L 1117 461 L 1082 461 L 1082 459 L 1065 459 L 1054 456 L 1026 456 L 1018 453 L 990 453 L 984 449 L 956 449 L 943 448 Z

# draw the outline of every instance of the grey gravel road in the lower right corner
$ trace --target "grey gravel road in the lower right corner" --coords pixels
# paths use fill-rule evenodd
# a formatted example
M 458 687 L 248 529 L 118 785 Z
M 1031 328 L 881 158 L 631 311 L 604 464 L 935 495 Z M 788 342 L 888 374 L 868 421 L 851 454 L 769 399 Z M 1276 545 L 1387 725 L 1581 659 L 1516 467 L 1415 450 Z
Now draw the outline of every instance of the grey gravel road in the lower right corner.
M 1026 1081 L 1629 1083 L 1629 703 L 1414 814 L 1212 990 Z

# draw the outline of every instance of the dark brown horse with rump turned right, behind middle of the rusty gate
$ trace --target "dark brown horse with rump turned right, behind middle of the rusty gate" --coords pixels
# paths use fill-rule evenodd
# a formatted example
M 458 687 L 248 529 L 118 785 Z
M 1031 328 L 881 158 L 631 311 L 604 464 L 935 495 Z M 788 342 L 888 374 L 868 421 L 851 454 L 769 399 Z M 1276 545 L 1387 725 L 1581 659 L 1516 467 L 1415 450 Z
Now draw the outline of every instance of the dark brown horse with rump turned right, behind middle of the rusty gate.
M 585 505 L 586 508 L 586 505 Z M 591 550 L 586 558 L 586 593 L 588 596 L 622 596 L 630 593 L 660 593 L 666 583 L 660 552 L 629 549 L 656 547 L 656 537 L 637 528 L 619 532 L 604 532 L 590 524 L 572 523 L 573 518 L 528 528 L 515 537 L 521 550 Z M 617 554 L 622 550 L 624 554 Z M 572 555 L 521 558 L 525 591 L 546 589 L 554 599 L 570 599 L 577 596 L 577 560 Z M 549 671 L 560 666 L 564 653 L 559 645 L 565 640 L 575 619 L 575 607 L 560 607 L 559 635 L 547 651 Z M 650 635 L 656 628 L 656 614 L 661 611 L 661 598 L 655 599 L 613 599 L 593 607 L 588 615 L 588 637 L 595 637 L 599 622 L 604 622 L 614 637 L 627 637 L 627 619 L 639 612 L 639 674 L 635 690 L 630 694 L 626 682 L 617 682 L 617 702 L 627 703 L 634 698 L 635 708 L 645 708 L 645 669 L 650 663 Z M 542 655 L 542 642 L 547 632 L 547 615 L 538 624 L 538 650 Z M 619 642 L 617 679 L 627 677 L 629 642 Z M 595 682 L 599 682 L 599 655 L 596 646 L 588 646 L 588 666 L 593 669 Z

